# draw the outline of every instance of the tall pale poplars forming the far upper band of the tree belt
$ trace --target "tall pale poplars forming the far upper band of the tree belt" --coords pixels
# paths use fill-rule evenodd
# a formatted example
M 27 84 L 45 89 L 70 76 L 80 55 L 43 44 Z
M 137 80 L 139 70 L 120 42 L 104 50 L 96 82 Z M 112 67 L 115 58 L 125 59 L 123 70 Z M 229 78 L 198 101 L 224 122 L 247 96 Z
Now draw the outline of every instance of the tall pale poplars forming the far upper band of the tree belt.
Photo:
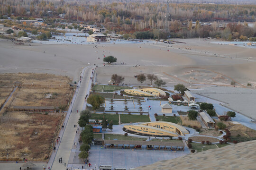
M 166 4 L 159 1 L 150 3 L 120 1 L 117 3 L 97 0 L 88 3 L 81 0 L 24 0 L 23 3 L 18 3 L 15 0 L 5 0 L 1 1 L 0 5 L 2 16 L 10 16 L 14 13 L 16 16 L 36 18 L 58 16 L 65 13 L 66 19 L 113 22 L 119 26 L 134 24 L 138 19 L 144 20 L 146 25 L 154 26 L 160 24 L 160 21 L 163 22 L 166 16 Z M 169 8 L 170 15 L 174 19 L 180 20 L 236 20 L 238 17 L 249 20 L 251 19 L 249 16 L 256 14 L 256 5 L 170 3 Z

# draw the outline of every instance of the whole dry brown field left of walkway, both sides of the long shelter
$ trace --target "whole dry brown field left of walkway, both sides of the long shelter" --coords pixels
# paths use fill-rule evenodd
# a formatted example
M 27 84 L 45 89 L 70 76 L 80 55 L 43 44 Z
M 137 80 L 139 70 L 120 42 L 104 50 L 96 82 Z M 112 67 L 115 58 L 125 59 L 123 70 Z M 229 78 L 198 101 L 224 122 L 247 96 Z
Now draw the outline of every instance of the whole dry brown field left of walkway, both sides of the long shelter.
M 15 112 L 9 108 L 14 105 L 55 106 L 65 110 L 73 93 L 73 87 L 69 85 L 71 79 L 67 76 L 18 73 L 0 74 L 0 80 L 1 92 L 7 91 L 7 87 L 12 91 L 14 82 L 20 82 L 0 110 L 0 159 L 6 159 L 8 153 L 10 160 L 44 160 L 52 151 L 64 113 Z

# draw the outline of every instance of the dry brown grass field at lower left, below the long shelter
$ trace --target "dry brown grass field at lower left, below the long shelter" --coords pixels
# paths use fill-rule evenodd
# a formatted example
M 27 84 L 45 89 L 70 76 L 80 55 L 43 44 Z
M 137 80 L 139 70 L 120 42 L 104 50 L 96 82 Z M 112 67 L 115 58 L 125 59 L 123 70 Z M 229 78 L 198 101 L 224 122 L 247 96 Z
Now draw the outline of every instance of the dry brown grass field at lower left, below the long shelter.
M 50 156 L 52 143 L 58 134 L 58 126 L 64 114 L 45 115 L 7 112 L 1 116 L 0 123 L 0 160 L 43 161 Z

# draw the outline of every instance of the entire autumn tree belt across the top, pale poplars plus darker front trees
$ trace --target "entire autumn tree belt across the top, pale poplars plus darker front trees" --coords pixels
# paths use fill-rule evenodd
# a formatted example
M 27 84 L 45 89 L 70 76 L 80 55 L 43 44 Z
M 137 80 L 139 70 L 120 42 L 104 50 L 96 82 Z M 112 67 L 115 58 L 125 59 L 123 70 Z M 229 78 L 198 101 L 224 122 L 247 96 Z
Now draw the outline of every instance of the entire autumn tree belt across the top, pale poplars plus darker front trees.
M 220 23 L 214 21 L 255 21 L 256 5 L 228 5 L 228 4 L 175 4 L 170 3 L 171 20 L 166 21 L 166 4 L 156 3 L 134 3 L 134 2 L 72 2 L 72 1 L 37 1 L 25 0 L 26 3 L 17 3 L 15 0 L 1 1 L 0 18 L 3 15 L 14 19 L 34 19 L 37 17 L 51 17 L 46 19 L 46 24 L 54 28 L 62 26 L 56 24 L 55 19 L 59 14 L 65 13 L 67 22 L 102 23 L 110 31 L 122 32 L 124 37 L 137 38 L 183 38 L 183 37 L 220 37 L 224 39 L 245 39 L 253 37 L 255 32 L 243 24 L 241 31 L 232 29 L 223 30 Z M 101 1 L 101 0 L 100 0 Z M 10 5 L 11 4 L 11 5 Z M 57 8 L 55 8 L 57 7 Z M 51 11 L 51 12 L 47 12 Z M 54 18 L 55 17 L 55 18 Z M 198 21 L 192 26 L 192 21 Z M 200 22 L 212 21 L 211 26 L 201 26 Z M 167 22 L 168 31 L 164 31 Z M 60 22 L 61 23 L 61 22 Z M 238 27 L 241 24 L 238 23 Z M 81 30 L 81 27 L 73 25 Z M 69 26 L 71 29 L 72 26 Z M 148 31 L 150 30 L 150 31 Z M 230 35 L 231 34 L 231 35 Z M 243 35 L 241 37 L 241 35 Z M 254 36 L 256 37 L 256 36 Z

